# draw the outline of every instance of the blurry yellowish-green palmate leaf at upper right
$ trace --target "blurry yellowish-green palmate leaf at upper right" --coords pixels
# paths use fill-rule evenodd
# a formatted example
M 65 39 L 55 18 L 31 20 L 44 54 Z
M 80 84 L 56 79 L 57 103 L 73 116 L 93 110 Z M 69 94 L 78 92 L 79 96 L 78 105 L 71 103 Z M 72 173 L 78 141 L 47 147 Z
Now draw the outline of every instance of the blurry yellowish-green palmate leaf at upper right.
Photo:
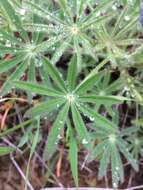
M 99 30 L 98 28 L 95 30 L 95 33 L 97 36 L 96 50 L 98 51 L 98 47 L 103 48 L 104 46 L 103 52 L 105 52 L 105 50 L 107 51 L 105 54 L 108 55 L 109 60 L 113 64 L 113 67 L 118 66 L 119 64 L 118 60 L 121 57 L 125 58 L 127 54 L 130 54 L 126 43 L 124 44 L 123 41 L 127 40 L 127 36 L 129 36 L 129 38 L 132 38 L 132 36 L 134 36 L 135 31 L 136 31 L 136 24 L 137 24 L 136 19 L 138 17 L 138 14 L 136 11 L 134 11 L 133 14 L 130 14 L 130 12 L 131 12 L 131 7 L 126 6 L 121 11 L 120 16 L 117 17 L 115 25 L 114 27 L 112 27 L 112 29 L 109 26 L 109 24 L 106 22 L 102 24 L 102 27 L 99 26 Z M 131 21 L 125 21 L 126 15 L 131 19 Z M 124 47 L 122 47 L 120 44 L 121 40 L 122 40 L 122 46 Z M 132 42 L 130 45 L 132 45 Z M 102 49 L 99 50 L 100 53 L 101 51 Z

